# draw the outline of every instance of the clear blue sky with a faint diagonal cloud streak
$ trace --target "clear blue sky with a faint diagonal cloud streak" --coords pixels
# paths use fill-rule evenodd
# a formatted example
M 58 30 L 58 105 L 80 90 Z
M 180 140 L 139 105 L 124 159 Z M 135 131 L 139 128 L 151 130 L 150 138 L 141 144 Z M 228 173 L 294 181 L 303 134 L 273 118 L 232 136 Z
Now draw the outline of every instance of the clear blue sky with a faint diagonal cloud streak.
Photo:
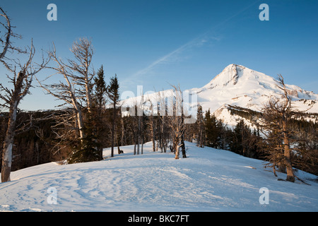
M 47 20 L 47 5 L 57 5 L 57 21 Z M 269 5 L 269 21 L 259 20 L 260 4 Z M 137 93 L 199 88 L 228 64 L 241 64 L 269 76 L 281 73 L 288 84 L 318 93 L 318 1 L 306 0 L 1 0 L 16 32 L 40 49 L 52 42 L 57 55 L 71 57 L 78 37 L 90 37 L 97 71 L 117 73 L 120 90 Z M 6 81 L 1 66 L 1 82 Z M 50 71 L 42 71 L 45 78 Z M 34 83 L 36 85 L 36 83 Z M 58 105 L 40 88 L 31 90 L 21 109 Z

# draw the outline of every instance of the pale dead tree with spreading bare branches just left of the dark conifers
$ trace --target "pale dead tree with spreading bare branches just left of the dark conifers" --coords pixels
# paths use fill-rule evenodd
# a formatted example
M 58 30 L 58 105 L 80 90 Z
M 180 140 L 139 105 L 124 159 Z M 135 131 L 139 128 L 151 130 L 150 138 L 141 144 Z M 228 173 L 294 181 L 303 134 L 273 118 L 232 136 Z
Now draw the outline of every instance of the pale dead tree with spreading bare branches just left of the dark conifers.
M 64 63 L 59 57 L 53 44 L 53 49 L 49 52 L 49 56 L 56 63 L 56 66 L 49 67 L 56 71 L 56 74 L 60 74 L 64 77 L 64 82 L 45 85 L 43 81 L 39 81 L 40 86 L 47 91 L 50 95 L 53 95 L 57 99 L 64 102 L 62 105 L 69 105 L 73 107 L 76 112 L 77 130 L 80 134 L 80 139 L 83 141 L 85 138 L 84 132 L 84 117 L 83 117 L 83 103 L 86 102 L 86 107 L 90 111 L 92 105 L 91 89 L 93 74 L 90 72 L 90 63 L 93 56 L 93 47 L 91 42 L 86 39 L 79 39 L 73 43 L 71 52 L 76 60 L 68 59 L 69 64 Z M 52 77 L 49 76 L 48 78 Z

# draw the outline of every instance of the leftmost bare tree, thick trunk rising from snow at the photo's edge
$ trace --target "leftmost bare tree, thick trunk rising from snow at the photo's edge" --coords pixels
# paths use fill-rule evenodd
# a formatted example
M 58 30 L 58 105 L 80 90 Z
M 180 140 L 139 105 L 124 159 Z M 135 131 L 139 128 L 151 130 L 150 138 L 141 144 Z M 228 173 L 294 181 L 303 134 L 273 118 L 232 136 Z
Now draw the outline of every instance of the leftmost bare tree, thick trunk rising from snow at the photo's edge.
M 29 49 L 28 60 L 25 64 L 21 64 L 20 60 L 14 60 L 11 64 L 5 64 L 11 76 L 8 76 L 10 83 L 13 84 L 13 88 L 5 87 L 0 84 L 0 99 L 4 101 L 1 104 L 2 107 L 6 107 L 9 111 L 8 114 L 8 127 L 6 130 L 6 136 L 4 138 L 4 148 L 2 153 L 2 167 L 1 167 L 1 181 L 10 181 L 11 162 L 12 162 L 12 147 L 13 139 L 16 135 L 16 116 L 18 105 L 20 100 L 28 95 L 33 76 L 41 71 L 49 59 L 44 59 L 42 56 L 42 64 L 34 64 L 33 57 L 35 56 L 35 47 L 31 42 Z

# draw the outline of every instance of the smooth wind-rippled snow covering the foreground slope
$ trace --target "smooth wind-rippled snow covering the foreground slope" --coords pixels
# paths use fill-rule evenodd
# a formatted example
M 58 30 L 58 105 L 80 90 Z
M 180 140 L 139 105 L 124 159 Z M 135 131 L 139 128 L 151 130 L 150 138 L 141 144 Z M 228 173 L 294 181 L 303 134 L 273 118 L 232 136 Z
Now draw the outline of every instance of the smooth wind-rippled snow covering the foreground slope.
M 153 153 L 124 154 L 73 165 L 51 162 L 11 173 L 0 184 L 1 211 L 317 211 L 316 176 L 298 171 L 311 186 L 278 181 L 264 162 L 227 150 L 197 148 L 186 143 L 187 157 Z M 278 174 L 285 179 L 285 174 Z M 47 198 L 57 191 L 57 204 Z M 269 189 L 261 205 L 259 189 Z

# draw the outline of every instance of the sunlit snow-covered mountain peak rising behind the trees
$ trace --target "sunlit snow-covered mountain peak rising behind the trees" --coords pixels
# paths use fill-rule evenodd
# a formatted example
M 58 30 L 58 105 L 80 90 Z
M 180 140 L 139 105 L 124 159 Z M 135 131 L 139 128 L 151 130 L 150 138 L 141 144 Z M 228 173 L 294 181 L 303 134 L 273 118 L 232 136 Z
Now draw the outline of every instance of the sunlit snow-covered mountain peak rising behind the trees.
M 218 119 L 223 119 L 225 124 L 235 125 L 241 117 L 230 114 L 230 108 L 235 106 L 259 111 L 269 97 L 283 95 L 276 84 L 276 80 L 271 76 L 245 66 L 230 64 L 203 87 L 184 91 L 191 93 L 192 96 L 196 95 L 197 102 L 204 111 L 210 109 L 211 113 L 216 114 Z M 293 97 L 294 107 L 318 113 L 317 94 L 303 90 L 297 85 L 285 85 Z M 172 93 L 172 90 L 160 91 L 163 97 L 169 97 Z M 158 93 L 145 95 L 150 100 L 155 100 L 157 96 Z M 140 102 L 140 97 L 124 100 L 124 105 L 133 105 L 134 102 Z M 196 105 L 196 102 L 192 102 L 193 105 Z

